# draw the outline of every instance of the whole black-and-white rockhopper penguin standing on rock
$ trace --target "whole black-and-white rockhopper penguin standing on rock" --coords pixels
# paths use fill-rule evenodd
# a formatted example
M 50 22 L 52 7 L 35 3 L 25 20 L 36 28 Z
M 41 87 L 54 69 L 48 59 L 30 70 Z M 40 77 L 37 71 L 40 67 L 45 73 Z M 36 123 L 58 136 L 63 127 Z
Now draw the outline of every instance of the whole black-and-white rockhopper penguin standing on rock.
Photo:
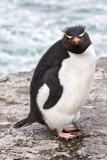
M 73 122 L 88 97 L 96 58 L 85 26 L 66 27 L 62 32 L 63 38 L 39 61 L 30 85 L 30 113 L 14 128 L 39 122 L 68 140 L 75 137 Z

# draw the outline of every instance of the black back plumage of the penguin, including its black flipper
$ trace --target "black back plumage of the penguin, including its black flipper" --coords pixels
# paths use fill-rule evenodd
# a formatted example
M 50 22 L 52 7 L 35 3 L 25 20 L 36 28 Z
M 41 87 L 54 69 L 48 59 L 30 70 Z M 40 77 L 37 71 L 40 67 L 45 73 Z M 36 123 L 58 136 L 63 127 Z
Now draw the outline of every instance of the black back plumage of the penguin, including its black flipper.
M 46 102 L 44 105 L 45 109 L 48 109 L 49 107 L 52 107 L 52 105 L 55 105 L 59 97 L 61 96 L 62 86 L 60 85 L 58 80 L 58 71 L 61 67 L 62 61 L 68 57 L 69 55 L 66 49 L 62 46 L 62 40 L 59 40 L 43 55 L 43 57 L 39 61 L 34 71 L 30 86 L 29 116 L 32 119 L 35 119 L 35 121 L 39 121 L 42 124 L 45 123 L 42 117 L 42 113 L 40 112 L 36 102 L 38 90 L 44 83 L 46 83 L 53 91 L 52 94 L 50 94 L 48 103 Z M 57 90 L 57 92 L 55 89 Z M 58 93 L 56 97 L 54 94 L 55 92 Z

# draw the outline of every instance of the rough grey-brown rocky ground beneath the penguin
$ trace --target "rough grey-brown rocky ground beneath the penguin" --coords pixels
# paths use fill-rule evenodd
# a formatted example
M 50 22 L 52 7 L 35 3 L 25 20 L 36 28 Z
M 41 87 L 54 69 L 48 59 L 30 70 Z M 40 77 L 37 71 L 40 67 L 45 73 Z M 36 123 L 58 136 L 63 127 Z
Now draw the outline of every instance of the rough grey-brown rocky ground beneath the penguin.
M 107 58 L 97 61 L 94 84 L 81 110 L 77 137 L 65 141 L 40 124 L 14 129 L 29 113 L 32 72 L 0 79 L 0 160 L 107 160 Z

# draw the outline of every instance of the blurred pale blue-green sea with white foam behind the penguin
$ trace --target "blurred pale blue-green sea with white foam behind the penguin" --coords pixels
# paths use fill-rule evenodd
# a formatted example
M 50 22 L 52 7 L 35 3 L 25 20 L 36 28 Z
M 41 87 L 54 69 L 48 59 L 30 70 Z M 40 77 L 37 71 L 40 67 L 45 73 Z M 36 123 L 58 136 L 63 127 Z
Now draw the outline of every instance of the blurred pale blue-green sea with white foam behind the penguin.
M 35 68 L 61 29 L 80 24 L 107 56 L 107 0 L 0 0 L 0 77 Z

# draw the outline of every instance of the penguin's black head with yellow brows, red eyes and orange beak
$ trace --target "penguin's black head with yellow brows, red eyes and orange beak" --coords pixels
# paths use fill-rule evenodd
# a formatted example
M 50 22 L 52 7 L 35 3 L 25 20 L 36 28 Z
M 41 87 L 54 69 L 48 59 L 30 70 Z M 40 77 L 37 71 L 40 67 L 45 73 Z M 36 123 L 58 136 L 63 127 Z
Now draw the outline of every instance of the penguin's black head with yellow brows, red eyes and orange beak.
M 62 32 L 63 47 L 72 53 L 82 54 L 91 44 L 88 33 L 85 31 L 85 26 L 66 27 Z

